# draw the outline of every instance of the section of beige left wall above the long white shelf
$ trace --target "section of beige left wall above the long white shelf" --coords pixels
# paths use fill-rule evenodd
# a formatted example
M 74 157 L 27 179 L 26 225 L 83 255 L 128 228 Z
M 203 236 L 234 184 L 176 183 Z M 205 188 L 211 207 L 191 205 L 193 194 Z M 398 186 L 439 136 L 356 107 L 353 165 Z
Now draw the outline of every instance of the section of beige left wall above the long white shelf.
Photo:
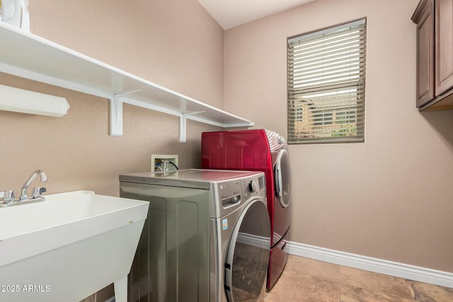
M 33 0 L 31 31 L 222 107 L 224 31 L 196 0 Z

